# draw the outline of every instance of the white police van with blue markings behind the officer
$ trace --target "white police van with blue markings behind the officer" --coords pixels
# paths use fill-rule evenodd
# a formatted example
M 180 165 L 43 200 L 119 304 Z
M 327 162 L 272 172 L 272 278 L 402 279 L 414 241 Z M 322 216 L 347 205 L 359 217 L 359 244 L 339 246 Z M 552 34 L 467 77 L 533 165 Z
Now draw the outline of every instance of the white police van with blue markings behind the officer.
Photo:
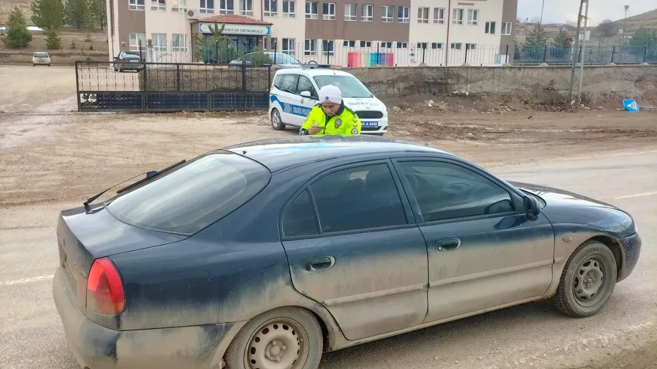
M 277 70 L 269 91 L 269 118 L 276 130 L 286 125 L 301 127 L 319 102 L 317 92 L 325 85 L 342 91 L 345 106 L 361 120 L 361 134 L 383 135 L 388 130 L 388 109 L 352 74 L 323 64 Z

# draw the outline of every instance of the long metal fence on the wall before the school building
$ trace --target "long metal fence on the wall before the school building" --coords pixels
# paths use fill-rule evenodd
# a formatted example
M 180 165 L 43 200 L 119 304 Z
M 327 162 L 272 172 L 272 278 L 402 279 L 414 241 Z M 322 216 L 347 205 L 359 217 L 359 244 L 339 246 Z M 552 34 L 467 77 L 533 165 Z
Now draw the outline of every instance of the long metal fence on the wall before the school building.
M 288 62 L 317 62 L 343 67 L 379 66 L 495 66 L 504 63 L 527 65 L 571 64 L 574 47 L 483 45 L 472 43 L 406 43 L 371 41 L 306 40 L 300 44 L 291 39 L 273 43 L 270 49 L 244 45 L 192 45 L 168 43 L 152 47 L 152 62 L 230 63 L 233 60 L 251 62 L 256 54 L 260 64 L 286 64 Z M 146 47 L 141 48 L 146 53 Z M 581 48 L 579 49 L 581 50 Z M 139 51 L 135 45 L 133 52 Z M 265 53 L 268 57 L 261 54 Z M 587 47 L 587 63 L 657 64 L 657 46 L 595 46 Z

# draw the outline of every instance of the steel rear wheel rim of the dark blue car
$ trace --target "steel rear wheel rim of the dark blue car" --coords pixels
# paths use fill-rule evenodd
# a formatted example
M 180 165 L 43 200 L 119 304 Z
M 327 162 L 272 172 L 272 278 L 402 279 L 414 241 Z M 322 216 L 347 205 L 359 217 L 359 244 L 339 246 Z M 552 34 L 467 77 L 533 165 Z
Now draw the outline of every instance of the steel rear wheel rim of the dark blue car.
M 261 324 L 248 340 L 244 366 L 250 369 L 300 369 L 308 358 L 308 337 L 300 324 L 275 318 Z

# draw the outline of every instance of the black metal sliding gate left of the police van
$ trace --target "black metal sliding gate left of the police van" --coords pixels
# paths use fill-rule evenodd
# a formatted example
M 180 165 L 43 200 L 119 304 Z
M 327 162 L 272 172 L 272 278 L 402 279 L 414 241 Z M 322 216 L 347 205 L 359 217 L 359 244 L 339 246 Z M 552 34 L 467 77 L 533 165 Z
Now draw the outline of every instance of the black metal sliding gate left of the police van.
M 76 62 L 80 112 L 266 109 L 270 81 L 270 66 Z

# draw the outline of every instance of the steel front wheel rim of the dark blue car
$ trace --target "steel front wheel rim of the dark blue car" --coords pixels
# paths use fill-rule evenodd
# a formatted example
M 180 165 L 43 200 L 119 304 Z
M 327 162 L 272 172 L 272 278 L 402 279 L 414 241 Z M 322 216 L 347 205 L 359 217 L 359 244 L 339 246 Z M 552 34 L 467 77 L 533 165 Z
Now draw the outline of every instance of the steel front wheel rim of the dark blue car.
M 583 307 L 591 307 L 600 302 L 609 285 L 609 265 L 597 255 L 587 257 L 579 263 L 573 276 L 573 295 Z

